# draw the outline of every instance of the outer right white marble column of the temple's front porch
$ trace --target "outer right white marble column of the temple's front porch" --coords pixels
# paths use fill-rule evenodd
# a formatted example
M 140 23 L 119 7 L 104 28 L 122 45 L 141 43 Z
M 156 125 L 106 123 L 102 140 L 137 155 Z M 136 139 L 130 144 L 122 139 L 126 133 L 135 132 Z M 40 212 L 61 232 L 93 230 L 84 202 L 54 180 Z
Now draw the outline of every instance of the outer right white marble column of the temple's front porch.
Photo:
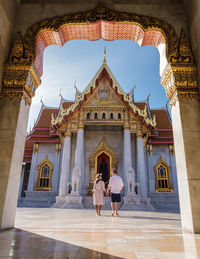
M 139 180 L 139 194 L 147 197 L 147 174 L 145 169 L 145 157 L 142 132 L 137 132 L 137 179 Z

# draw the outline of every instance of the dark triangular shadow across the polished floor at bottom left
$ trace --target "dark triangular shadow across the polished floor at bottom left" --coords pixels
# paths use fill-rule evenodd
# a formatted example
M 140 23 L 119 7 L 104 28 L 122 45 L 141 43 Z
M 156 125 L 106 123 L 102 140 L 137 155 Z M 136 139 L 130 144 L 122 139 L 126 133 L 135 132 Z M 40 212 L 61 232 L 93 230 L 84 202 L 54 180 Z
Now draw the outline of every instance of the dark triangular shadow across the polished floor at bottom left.
M 0 258 L 121 259 L 17 228 L 0 232 Z

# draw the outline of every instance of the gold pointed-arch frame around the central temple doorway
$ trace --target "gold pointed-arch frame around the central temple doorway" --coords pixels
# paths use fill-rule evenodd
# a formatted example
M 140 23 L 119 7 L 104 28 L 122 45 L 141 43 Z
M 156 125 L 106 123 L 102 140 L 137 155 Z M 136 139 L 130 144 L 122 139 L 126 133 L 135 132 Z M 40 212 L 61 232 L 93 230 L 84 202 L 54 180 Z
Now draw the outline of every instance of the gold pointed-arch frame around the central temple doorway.
M 93 182 L 95 180 L 95 176 L 97 174 L 97 158 L 102 153 L 105 153 L 110 158 L 110 171 L 117 169 L 118 159 L 115 152 L 106 142 L 106 139 L 103 138 L 99 146 L 91 153 L 89 157 L 90 162 L 90 187 L 89 190 L 92 189 Z

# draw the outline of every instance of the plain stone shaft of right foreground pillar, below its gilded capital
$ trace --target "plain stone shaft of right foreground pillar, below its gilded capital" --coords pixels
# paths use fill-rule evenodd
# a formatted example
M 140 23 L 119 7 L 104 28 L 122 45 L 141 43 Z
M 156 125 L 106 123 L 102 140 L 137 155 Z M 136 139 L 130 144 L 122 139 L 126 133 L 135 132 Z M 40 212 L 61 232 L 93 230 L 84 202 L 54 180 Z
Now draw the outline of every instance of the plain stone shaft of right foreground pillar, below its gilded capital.
M 200 102 L 183 97 L 172 106 L 181 223 L 200 233 Z

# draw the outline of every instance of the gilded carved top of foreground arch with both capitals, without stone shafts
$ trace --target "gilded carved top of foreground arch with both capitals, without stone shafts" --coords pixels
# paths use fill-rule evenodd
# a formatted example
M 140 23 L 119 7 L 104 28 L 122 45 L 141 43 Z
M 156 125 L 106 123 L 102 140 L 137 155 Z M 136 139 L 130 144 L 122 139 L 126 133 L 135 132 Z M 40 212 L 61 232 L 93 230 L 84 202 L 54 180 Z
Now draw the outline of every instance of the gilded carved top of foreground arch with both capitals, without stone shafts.
M 44 48 L 52 44 L 62 46 L 68 40 L 83 39 L 84 37 L 89 40 L 97 40 L 103 38 L 102 34 L 96 36 L 96 38 L 90 38 L 90 33 L 87 36 L 84 36 L 84 33 L 74 35 L 73 28 L 75 27 L 73 26 L 98 27 L 101 25 L 98 22 L 105 23 L 105 26 L 103 26 L 105 30 L 108 30 L 107 28 L 110 26 L 111 31 L 112 26 L 115 25 L 135 25 L 136 29 L 141 30 L 143 36 L 145 36 L 146 42 L 144 45 L 157 47 L 160 42 L 158 39 L 162 38 L 162 43 L 166 44 L 168 64 L 163 72 L 161 83 L 166 90 L 167 96 L 171 99 L 171 104 L 173 105 L 181 97 L 195 97 L 199 99 L 196 65 L 189 40 L 184 31 L 178 37 L 173 26 L 166 21 L 155 17 L 119 12 L 102 5 L 89 11 L 39 21 L 27 29 L 24 37 L 18 33 L 8 61 L 4 66 L 1 97 L 7 96 L 12 99 L 18 96 L 19 98 L 24 98 L 27 103 L 31 103 L 31 98 L 40 84 L 40 77 L 42 75 L 44 49 L 38 46 L 38 41 L 43 33 L 46 33 L 46 38 L 51 38 L 51 41 Z M 95 28 L 97 29 L 97 27 Z M 100 27 L 102 28 L 102 26 Z M 62 35 L 67 28 L 71 28 L 69 33 L 71 38 L 63 39 L 63 37 L 60 37 L 60 34 Z M 149 40 L 151 32 L 158 37 L 154 35 Z M 125 37 L 123 39 L 135 40 L 131 37 L 132 35 L 130 34 L 129 38 Z M 113 40 L 116 39 L 118 39 L 117 36 L 113 34 Z

